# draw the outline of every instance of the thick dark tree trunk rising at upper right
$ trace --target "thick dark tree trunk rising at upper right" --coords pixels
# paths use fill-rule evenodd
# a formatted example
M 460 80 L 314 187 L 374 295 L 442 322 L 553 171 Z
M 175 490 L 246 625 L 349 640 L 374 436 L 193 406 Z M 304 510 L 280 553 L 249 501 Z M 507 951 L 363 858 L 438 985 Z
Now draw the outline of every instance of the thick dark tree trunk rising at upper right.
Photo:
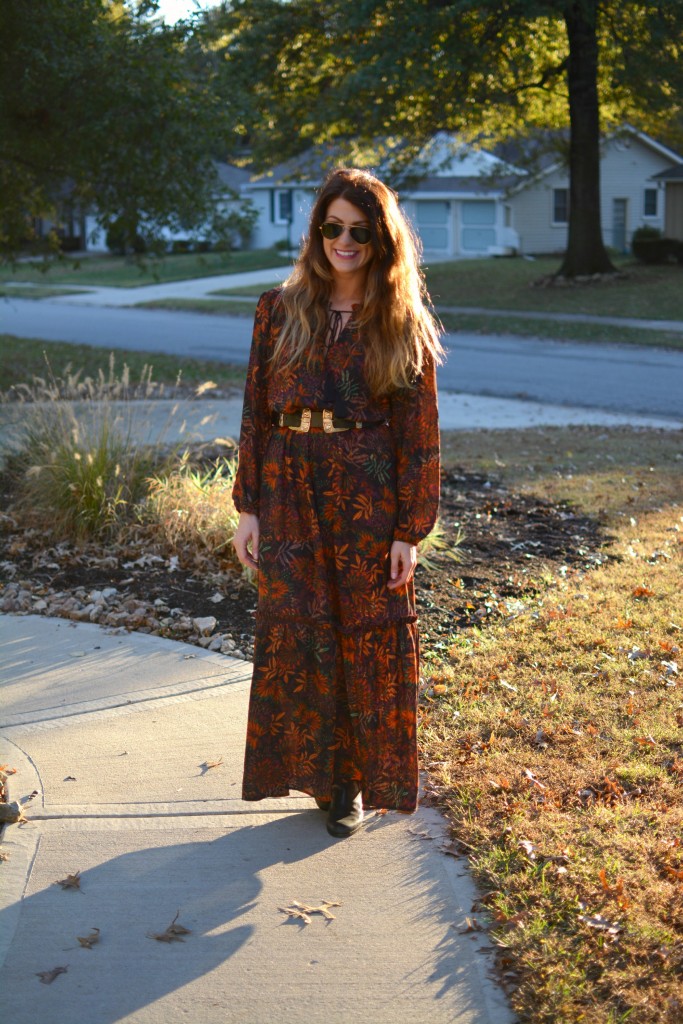
M 600 111 L 597 12 L 600 0 L 572 0 L 564 8 L 569 41 L 569 232 L 559 273 L 614 270 L 600 226 Z

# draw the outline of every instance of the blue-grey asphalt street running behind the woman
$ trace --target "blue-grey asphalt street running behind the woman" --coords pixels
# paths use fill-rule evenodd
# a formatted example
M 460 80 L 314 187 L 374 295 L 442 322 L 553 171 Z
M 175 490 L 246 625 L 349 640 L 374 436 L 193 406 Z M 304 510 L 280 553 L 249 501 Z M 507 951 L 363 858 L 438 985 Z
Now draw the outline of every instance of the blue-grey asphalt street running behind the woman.
M 11 298 L 1 300 L 0 331 L 245 364 L 251 324 L 245 317 Z M 681 351 L 465 332 L 446 335 L 445 343 L 442 390 L 681 417 Z

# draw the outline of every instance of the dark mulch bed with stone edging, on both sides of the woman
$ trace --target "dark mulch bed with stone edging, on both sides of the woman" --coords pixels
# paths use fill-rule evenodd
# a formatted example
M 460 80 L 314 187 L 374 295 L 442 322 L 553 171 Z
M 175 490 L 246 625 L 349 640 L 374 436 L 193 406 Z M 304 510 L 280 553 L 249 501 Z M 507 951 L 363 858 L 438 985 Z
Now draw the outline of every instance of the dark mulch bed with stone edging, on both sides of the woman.
M 5 508 L 6 488 L 5 481 Z M 464 470 L 443 473 L 439 515 L 444 546 L 428 551 L 416 572 L 422 647 L 435 655 L 459 632 L 521 610 L 522 599 L 544 589 L 547 570 L 581 570 L 607 557 L 599 521 Z M 92 592 L 105 588 L 116 595 L 85 614 Z M 205 647 L 213 638 L 211 649 L 249 658 L 255 606 L 254 586 L 208 554 L 188 564 L 144 539 L 109 547 L 54 543 L 22 528 L 11 510 L 2 516 L 0 610 L 62 614 Z M 202 636 L 191 624 L 206 616 L 216 625 Z

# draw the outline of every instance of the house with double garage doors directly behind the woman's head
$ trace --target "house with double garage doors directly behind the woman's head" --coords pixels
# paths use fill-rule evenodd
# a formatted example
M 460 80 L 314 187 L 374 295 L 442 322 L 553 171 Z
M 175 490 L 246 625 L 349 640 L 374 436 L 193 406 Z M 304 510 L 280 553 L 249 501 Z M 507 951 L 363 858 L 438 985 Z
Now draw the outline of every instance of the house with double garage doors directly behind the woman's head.
M 383 177 L 381 168 L 377 173 Z M 245 195 L 259 211 L 253 237 L 256 248 L 298 246 L 325 174 L 325 157 L 311 152 L 245 186 Z M 459 144 L 445 133 L 435 136 L 418 165 L 405 172 L 404 187 L 398 187 L 402 209 L 420 236 L 425 255 L 454 259 L 515 252 L 518 239 L 505 196 L 510 184 L 524 174 L 484 150 Z

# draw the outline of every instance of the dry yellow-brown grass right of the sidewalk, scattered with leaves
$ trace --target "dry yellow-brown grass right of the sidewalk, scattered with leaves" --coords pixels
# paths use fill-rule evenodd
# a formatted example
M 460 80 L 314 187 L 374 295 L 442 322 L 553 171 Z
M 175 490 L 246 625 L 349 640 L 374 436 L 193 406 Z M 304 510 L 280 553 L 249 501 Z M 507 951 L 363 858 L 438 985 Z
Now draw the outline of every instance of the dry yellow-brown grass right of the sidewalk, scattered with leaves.
M 610 558 L 427 669 L 421 735 L 515 1010 L 683 1016 L 680 435 L 444 437 L 444 461 L 601 515 Z

